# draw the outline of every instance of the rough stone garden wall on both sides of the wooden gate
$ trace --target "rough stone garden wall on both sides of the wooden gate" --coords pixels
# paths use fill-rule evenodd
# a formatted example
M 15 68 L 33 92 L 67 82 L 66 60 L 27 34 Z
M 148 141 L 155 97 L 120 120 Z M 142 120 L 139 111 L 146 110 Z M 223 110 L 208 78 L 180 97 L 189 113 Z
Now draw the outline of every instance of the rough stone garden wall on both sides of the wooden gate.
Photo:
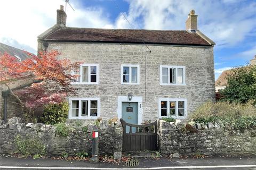
M 86 126 L 87 129 L 81 127 Z M 0 121 L 0 154 L 13 154 L 17 151 L 15 137 L 38 139 L 45 146 L 48 155 L 59 156 L 63 153 L 75 155 L 92 148 L 94 124 L 68 124 L 67 137 L 59 135 L 56 127 L 42 123 L 21 123 L 13 117 L 9 123 Z M 113 155 L 122 152 L 122 126 L 119 121 L 101 121 L 99 128 L 99 154 Z M 181 123 L 159 121 L 158 147 L 162 155 L 255 155 L 256 129 L 234 130 L 223 124 Z

